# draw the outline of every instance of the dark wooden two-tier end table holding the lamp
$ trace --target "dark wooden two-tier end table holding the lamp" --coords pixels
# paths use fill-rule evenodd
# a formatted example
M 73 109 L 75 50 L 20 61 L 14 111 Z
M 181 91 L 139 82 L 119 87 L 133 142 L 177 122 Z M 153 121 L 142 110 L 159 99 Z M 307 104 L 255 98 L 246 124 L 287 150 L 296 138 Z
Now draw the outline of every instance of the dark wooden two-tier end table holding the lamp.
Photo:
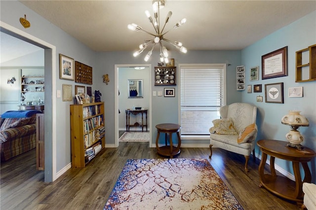
M 259 165 L 260 184 L 259 187 L 265 187 L 270 192 L 295 201 L 299 207 L 303 204 L 303 182 L 311 182 L 312 175 L 307 165 L 316 156 L 315 151 L 304 147 L 303 150 L 296 148 L 285 147 L 287 142 L 278 140 L 260 140 L 257 142 L 260 150 L 262 151 L 262 159 Z M 270 174 L 264 173 L 267 155 L 270 155 Z M 276 176 L 275 158 L 292 161 L 295 181 L 286 177 Z M 302 164 L 305 177 L 302 182 L 299 163 Z

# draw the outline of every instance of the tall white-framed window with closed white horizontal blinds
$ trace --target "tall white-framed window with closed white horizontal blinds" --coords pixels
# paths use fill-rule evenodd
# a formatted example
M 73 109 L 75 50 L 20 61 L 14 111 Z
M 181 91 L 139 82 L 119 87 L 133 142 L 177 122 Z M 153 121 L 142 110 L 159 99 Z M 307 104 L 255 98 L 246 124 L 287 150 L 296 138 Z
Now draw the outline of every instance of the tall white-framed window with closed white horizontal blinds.
M 181 135 L 209 135 L 226 105 L 226 64 L 179 64 Z

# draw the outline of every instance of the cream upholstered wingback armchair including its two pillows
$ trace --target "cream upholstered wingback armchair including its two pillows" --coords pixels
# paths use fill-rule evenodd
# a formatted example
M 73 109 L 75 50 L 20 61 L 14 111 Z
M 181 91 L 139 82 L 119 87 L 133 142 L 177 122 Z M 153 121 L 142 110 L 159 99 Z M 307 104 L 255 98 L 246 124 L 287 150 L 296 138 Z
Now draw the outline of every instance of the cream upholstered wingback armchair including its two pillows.
M 221 119 L 213 120 L 210 131 L 210 150 L 212 146 L 244 155 L 245 172 L 248 170 L 249 155 L 255 157 L 257 137 L 257 107 L 247 103 L 233 103 L 220 108 Z

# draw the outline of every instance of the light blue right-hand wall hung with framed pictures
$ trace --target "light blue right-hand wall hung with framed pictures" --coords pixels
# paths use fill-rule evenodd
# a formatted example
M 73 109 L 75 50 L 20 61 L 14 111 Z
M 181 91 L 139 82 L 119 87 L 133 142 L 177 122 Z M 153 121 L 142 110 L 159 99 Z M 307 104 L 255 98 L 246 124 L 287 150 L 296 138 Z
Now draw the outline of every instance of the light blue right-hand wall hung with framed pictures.
M 260 139 L 285 140 L 285 134 L 290 127 L 281 124 L 281 118 L 288 113 L 288 110 L 300 110 L 310 122 L 309 127 L 301 127 L 300 132 L 304 136 L 302 145 L 316 151 L 316 81 L 295 83 L 295 52 L 316 44 L 316 11 L 295 21 L 294 23 L 275 31 L 258 42 L 242 50 L 242 64 L 246 67 L 246 75 L 249 78 L 250 67 L 259 66 L 259 81 L 249 81 L 246 78 L 246 85 L 262 84 L 262 92 L 242 92 L 242 102 L 254 103 L 258 107 L 258 137 Z M 261 56 L 277 49 L 288 47 L 288 76 L 262 80 L 261 78 Z M 314 58 L 316 59 L 316 58 Z M 256 102 L 256 96 L 264 96 L 265 84 L 284 83 L 284 104 Z M 289 98 L 288 88 L 303 87 L 304 97 Z M 256 153 L 261 154 L 258 147 Z M 285 171 L 291 172 L 292 164 L 288 161 L 276 159 L 276 165 Z M 316 181 L 315 158 L 309 163 L 313 182 Z

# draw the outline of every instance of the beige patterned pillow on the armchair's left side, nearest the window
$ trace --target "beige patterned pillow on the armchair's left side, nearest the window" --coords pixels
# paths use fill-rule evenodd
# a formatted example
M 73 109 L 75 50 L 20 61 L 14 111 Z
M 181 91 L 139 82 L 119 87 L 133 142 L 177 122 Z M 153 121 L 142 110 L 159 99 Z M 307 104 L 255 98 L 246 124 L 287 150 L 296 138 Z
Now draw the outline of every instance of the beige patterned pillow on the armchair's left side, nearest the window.
M 231 118 L 228 119 L 216 119 L 212 121 L 214 127 L 209 129 L 210 133 L 224 134 L 224 135 L 238 135 L 234 122 Z

